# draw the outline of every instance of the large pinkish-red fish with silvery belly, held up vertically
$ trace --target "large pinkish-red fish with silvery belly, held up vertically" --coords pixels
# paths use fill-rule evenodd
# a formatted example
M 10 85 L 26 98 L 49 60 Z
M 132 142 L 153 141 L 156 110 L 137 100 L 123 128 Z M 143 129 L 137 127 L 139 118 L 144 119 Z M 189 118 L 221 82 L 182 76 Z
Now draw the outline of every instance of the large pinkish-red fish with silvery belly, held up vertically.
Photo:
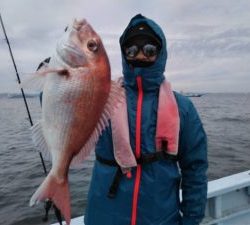
M 42 119 L 33 140 L 49 151 L 52 169 L 30 205 L 51 199 L 70 224 L 69 167 L 94 148 L 117 95 L 101 39 L 86 20 L 74 21 L 38 77 L 44 79 Z

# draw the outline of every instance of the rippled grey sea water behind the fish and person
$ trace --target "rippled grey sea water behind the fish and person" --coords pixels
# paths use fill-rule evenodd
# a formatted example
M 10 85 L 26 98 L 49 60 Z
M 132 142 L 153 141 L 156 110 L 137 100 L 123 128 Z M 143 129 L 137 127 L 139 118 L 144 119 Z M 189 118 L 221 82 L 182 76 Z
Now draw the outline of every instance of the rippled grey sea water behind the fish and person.
M 208 136 L 209 180 L 250 169 L 250 94 L 205 94 L 191 98 Z M 41 116 L 38 98 L 28 98 L 33 122 Z M 44 179 L 38 152 L 30 138 L 30 122 L 21 98 L 0 96 L 0 224 L 47 225 L 44 205 L 29 199 Z M 72 217 L 84 214 L 94 162 L 70 170 Z M 49 170 L 51 164 L 46 161 Z

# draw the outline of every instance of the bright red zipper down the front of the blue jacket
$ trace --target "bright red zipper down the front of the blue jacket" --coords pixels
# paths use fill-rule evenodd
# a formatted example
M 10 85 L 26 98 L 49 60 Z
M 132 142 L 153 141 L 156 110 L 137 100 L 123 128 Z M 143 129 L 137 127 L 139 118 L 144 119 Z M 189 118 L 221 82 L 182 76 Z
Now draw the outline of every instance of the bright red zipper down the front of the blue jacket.
M 138 159 L 141 156 L 141 112 L 142 112 L 142 100 L 143 100 L 141 76 L 138 76 L 136 78 L 136 81 L 138 86 L 138 98 L 137 98 L 137 111 L 136 111 L 135 156 Z M 136 168 L 135 183 L 134 183 L 131 225 L 136 225 L 141 173 L 142 173 L 141 165 L 138 165 Z

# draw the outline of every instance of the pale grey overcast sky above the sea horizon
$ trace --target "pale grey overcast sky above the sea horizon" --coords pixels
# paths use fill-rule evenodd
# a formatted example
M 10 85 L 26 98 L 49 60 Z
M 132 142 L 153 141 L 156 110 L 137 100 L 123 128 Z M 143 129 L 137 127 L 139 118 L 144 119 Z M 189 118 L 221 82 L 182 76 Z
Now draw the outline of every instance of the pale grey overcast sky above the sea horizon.
M 86 18 L 101 36 L 112 77 L 122 75 L 119 37 L 136 14 L 167 38 L 165 77 L 184 92 L 250 92 L 249 0 L 0 0 L 21 79 L 53 54 L 64 28 Z M 0 29 L 0 92 L 18 92 Z

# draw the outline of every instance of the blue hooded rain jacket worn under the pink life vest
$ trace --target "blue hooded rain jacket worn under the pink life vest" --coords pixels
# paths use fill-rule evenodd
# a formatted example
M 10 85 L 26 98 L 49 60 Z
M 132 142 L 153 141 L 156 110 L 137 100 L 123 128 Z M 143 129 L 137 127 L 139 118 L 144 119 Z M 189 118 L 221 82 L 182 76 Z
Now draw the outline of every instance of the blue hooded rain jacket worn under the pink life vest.
M 161 28 L 140 14 L 132 18 L 120 38 L 132 26 L 145 22 L 161 38 L 162 50 L 154 65 L 131 68 L 122 56 L 126 89 L 130 143 L 135 150 L 138 88 L 136 77 L 142 77 L 141 152 L 155 151 L 155 133 L 159 87 L 164 80 L 167 60 L 166 40 Z M 142 166 L 136 225 L 197 225 L 204 216 L 207 195 L 207 140 L 192 102 L 175 93 L 180 114 L 178 163 L 161 160 Z M 114 160 L 112 130 L 101 135 L 96 153 Z M 179 165 L 179 166 L 178 166 Z M 114 199 L 107 197 L 116 168 L 95 161 L 85 212 L 85 225 L 131 224 L 136 168 L 132 178 L 123 176 Z M 182 202 L 179 189 L 182 189 Z

